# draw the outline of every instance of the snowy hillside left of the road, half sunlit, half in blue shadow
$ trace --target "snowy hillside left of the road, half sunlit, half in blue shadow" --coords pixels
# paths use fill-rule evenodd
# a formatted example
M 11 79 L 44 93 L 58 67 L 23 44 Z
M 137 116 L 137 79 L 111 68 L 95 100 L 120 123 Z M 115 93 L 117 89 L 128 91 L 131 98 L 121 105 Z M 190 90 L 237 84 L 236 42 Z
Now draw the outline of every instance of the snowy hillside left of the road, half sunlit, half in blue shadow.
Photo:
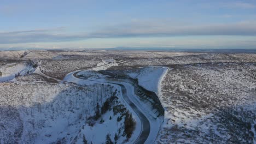
M 104 122 L 101 118 L 96 121 L 93 118 L 97 103 L 101 107 L 112 98 L 115 99 L 112 106 L 121 106 L 119 93 L 110 85 L 18 82 L 0 83 L 0 89 L 2 143 L 80 143 L 83 135 L 89 142 L 102 143 L 108 133 L 113 141 L 115 134 L 119 137 L 117 141 L 126 140 L 122 136 L 122 112 L 107 110 L 102 114 Z M 98 135 L 99 129 L 101 135 Z

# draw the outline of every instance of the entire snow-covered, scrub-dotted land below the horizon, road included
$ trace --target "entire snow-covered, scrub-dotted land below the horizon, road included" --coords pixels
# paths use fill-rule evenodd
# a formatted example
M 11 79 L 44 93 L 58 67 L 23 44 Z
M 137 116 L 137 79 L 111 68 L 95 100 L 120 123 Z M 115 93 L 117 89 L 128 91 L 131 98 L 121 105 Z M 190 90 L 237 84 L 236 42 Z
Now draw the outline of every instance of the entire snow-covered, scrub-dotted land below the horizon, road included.
M 256 54 L 0 51 L 0 143 L 256 143 Z

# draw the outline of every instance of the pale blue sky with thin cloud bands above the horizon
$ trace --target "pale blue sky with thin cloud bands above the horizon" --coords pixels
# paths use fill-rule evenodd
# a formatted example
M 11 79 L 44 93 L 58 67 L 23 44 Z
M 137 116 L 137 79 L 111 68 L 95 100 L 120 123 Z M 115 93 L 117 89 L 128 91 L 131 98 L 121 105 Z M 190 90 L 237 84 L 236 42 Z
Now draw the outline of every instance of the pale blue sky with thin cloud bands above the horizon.
M 2 0 L 0 50 L 256 49 L 256 1 Z

